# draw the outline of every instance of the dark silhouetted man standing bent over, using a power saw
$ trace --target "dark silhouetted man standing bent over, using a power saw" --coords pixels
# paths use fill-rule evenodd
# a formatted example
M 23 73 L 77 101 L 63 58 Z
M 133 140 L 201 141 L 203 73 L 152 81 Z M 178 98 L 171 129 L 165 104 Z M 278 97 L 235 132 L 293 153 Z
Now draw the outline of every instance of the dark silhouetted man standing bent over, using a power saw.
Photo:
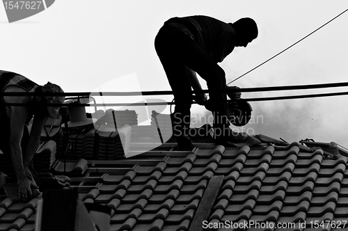
M 214 140 L 231 145 L 245 141 L 246 134 L 233 132 L 228 122 L 226 93 L 221 90 L 237 88 L 226 86 L 226 77 L 221 63 L 235 47 L 246 47 L 258 37 L 258 26 L 251 18 L 242 18 L 234 23 L 196 15 L 173 17 L 164 23 L 155 39 L 155 49 L 164 67 L 175 98 L 173 134 L 177 138 L 178 150 L 191 150 L 194 146 L 189 138 L 190 109 L 193 90 L 202 90 L 196 73 L 207 81 L 214 92 L 195 94 L 198 104 L 204 104 L 214 116 Z M 230 99 L 239 99 L 241 93 L 228 93 Z

